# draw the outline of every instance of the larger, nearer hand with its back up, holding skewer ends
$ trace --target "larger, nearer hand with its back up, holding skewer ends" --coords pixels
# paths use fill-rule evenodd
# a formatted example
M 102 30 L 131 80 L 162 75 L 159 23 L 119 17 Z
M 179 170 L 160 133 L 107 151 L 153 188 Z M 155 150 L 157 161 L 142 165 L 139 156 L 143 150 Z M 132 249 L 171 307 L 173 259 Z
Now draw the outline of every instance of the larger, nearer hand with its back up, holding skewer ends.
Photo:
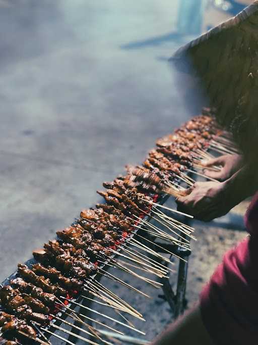
M 185 196 L 176 199 L 177 209 L 209 222 L 224 216 L 235 206 L 227 194 L 225 182 L 196 182 L 187 189 Z

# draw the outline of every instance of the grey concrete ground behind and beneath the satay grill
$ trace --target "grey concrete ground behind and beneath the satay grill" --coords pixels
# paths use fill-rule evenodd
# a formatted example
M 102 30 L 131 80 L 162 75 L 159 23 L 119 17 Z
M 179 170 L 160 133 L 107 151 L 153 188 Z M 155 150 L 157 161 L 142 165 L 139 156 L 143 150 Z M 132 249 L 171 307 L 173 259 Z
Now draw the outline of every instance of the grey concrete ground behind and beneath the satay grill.
M 190 37 L 174 34 L 177 11 L 177 0 L 0 1 L 0 281 L 188 118 L 167 63 Z M 199 228 L 190 305 L 244 236 Z M 136 301 L 153 324 L 148 339 L 170 320 L 157 295 Z

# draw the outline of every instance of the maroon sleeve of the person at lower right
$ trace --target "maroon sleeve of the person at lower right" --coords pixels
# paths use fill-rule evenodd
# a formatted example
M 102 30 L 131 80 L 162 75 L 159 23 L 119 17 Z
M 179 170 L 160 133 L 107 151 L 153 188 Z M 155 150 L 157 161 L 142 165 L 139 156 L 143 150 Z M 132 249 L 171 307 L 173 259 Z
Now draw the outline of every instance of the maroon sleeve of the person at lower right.
M 202 319 L 218 345 L 258 344 L 258 193 L 245 225 L 250 237 L 225 254 L 201 293 Z

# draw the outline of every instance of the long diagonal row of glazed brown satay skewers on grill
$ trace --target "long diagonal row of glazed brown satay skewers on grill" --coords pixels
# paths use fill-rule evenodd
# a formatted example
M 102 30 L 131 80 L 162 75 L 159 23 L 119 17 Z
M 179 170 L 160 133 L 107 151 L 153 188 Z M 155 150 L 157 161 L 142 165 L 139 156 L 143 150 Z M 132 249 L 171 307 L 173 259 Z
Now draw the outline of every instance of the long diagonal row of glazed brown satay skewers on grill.
M 106 190 L 98 193 L 105 199 L 105 204 L 83 210 L 80 219 L 76 219 L 70 227 L 57 231 L 57 240 L 49 241 L 43 249 L 33 252 L 37 263 L 32 267 L 19 264 L 18 277 L 0 290 L 0 327 L 3 336 L 0 344 L 16 345 L 29 343 L 30 340 L 50 343 L 46 333 L 64 339 L 54 332 L 55 329 L 88 343 L 96 343 L 58 326 L 57 321 L 71 326 L 72 321 L 77 321 L 82 327 L 75 328 L 87 336 L 95 337 L 96 341 L 108 344 L 110 339 L 104 337 L 104 332 L 85 320 L 95 322 L 102 330 L 107 328 L 123 334 L 94 317 L 76 313 L 73 310 L 76 306 L 144 334 L 125 316 L 128 314 L 144 320 L 143 315 L 107 289 L 97 277 L 105 276 L 145 297 L 149 296 L 104 270 L 104 266 L 124 271 L 156 288 L 162 286 L 154 278 L 167 277 L 171 271 L 168 265 L 172 263 L 158 253 L 159 245 L 154 244 L 152 238 L 158 237 L 179 248 L 189 249 L 190 239 L 195 237 L 192 227 L 165 214 L 162 209 L 168 208 L 156 201 L 161 194 L 178 196 L 184 193 L 185 188 L 179 185 L 180 181 L 186 187 L 195 182 L 187 172 L 197 173 L 196 170 L 203 167 L 203 159 L 210 157 L 206 152 L 210 143 L 217 152 L 236 152 L 228 134 L 221 132 L 222 135 L 218 136 L 219 131 L 212 117 L 202 115 L 193 118 L 173 134 L 158 139 L 157 148 L 150 151 L 143 166 L 127 166 L 125 176 L 103 183 Z M 150 223 L 147 216 L 161 226 Z M 136 231 L 138 229 L 142 230 L 141 234 Z M 148 236 L 143 236 L 143 233 Z M 164 248 L 162 250 L 176 256 Z M 150 278 L 150 274 L 153 278 Z M 78 303 L 79 295 L 111 308 L 117 317 L 110 317 Z M 71 320 L 61 319 L 61 316 Z M 70 340 L 68 343 L 73 344 Z

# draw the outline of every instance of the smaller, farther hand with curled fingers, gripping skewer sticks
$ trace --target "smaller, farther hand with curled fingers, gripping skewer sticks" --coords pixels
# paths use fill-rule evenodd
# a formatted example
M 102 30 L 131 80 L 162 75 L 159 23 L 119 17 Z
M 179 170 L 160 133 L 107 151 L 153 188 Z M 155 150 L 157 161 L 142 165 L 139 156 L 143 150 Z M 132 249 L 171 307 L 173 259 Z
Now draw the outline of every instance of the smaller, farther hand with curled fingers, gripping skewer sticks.
M 210 159 L 203 163 L 208 167 L 221 167 L 220 171 L 211 171 L 204 168 L 204 174 L 215 178 L 218 181 L 225 181 L 243 166 L 241 155 L 223 155 L 218 158 Z

